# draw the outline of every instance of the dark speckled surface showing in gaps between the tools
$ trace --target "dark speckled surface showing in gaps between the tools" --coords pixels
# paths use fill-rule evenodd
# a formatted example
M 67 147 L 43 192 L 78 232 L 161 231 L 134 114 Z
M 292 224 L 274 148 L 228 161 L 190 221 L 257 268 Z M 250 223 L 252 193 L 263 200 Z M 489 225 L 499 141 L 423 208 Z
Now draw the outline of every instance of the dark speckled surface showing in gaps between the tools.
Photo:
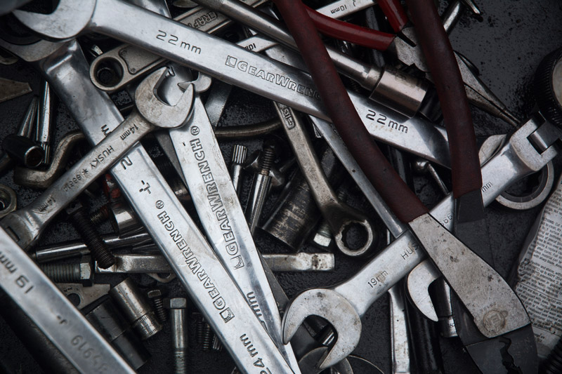
M 441 8 L 446 5 L 442 1 Z M 561 46 L 562 36 L 562 3 L 558 0 L 544 1 L 516 1 L 494 0 L 480 1 L 482 17 L 464 14 L 455 30 L 451 34 L 453 47 L 466 55 L 480 69 L 481 78 L 495 94 L 502 99 L 509 109 L 521 118 L 525 117 L 534 103 L 528 87 L 538 63 L 544 55 Z M 103 43 L 103 42 L 102 42 Z M 34 94 L 39 93 L 39 74 L 25 65 L 17 62 L 11 66 L 0 65 L 0 76 L 18 81 L 30 81 Z M 0 104 L 0 138 L 13 133 L 20 118 L 27 107 L 31 95 Z M 235 90 L 231 95 L 229 107 L 226 109 L 221 126 L 235 126 L 237 124 L 254 123 L 273 117 L 273 110 L 267 100 Z M 511 131 L 506 123 L 502 123 L 487 114 L 473 109 L 473 119 L 477 135 L 482 137 Z M 55 141 L 60 139 L 68 130 L 76 128 L 64 105 L 55 109 L 56 132 Z M 223 142 L 226 159 L 230 158 L 233 142 Z M 261 142 L 247 142 L 251 149 L 261 147 Z M 558 166 L 558 165 L 557 165 Z M 559 168 L 557 167 L 557 170 Z M 0 182 L 13 185 L 12 173 L 4 176 Z M 249 187 L 249 181 L 246 182 Z M 28 189 L 17 189 L 18 205 L 25 206 L 38 192 Z M 428 204 L 436 203 L 440 196 L 436 192 L 433 182 L 424 178 L 416 179 L 416 192 Z M 366 206 L 362 197 L 351 189 L 351 201 L 359 206 Z M 93 203 L 93 205 L 99 202 Z M 270 200 L 268 208 L 273 205 Z M 490 240 L 494 251 L 497 271 L 503 276 L 509 274 L 514 266 L 518 251 L 520 251 L 525 235 L 539 208 L 525 212 L 508 211 L 497 205 L 487 209 Z M 372 213 L 372 212 L 371 212 Z M 109 227 L 106 225 L 105 230 Z M 55 222 L 44 235 L 43 243 L 53 243 L 77 238 L 77 234 L 62 222 Z M 279 244 L 258 234 L 256 241 L 263 252 L 287 251 Z M 304 248 L 311 251 L 312 248 Z M 361 260 L 350 260 L 336 254 L 336 269 L 330 273 L 315 274 L 278 274 L 287 295 L 292 297 L 300 290 L 316 286 L 330 286 L 344 281 L 362 265 Z M 154 281 L 145 276 L 134 276 L 141 286 L 152 286 Z M 101 283 L 119 282 L 119 277 L 99 276 Z M 169 283 L 170 295 L 182 295 L 183 291 L 177 281 Z M 0 306 L 1 307 L 1 306 Z M 355 354 L 375 363 L 384 373 L 391 370 L 390 359 L 390 327 L 388 323 L 388 298 L 378 300 L 367 312 L 362 320 L 362 338 Z M 190 323 L 190 336 L 194 326 Z M 169 325 L 164 331 L 145 342 L 152 354 L 141 373 L 168 372 L 172 369 L 172 355 L 169 338 Z M 39 371 L 30 354 L 22 347 L 18 338 L 4 320 L 0 319 L 0 361 L 5 370 L 11 373 L 32 373 Z M 230 373 L 233 361 L 228 354 L 216 352 L 202 352 L 195 342 L 190 342 L 189 360 L 191 373 Z M 441 340 L 441 350 L 447 373 L 477 373 L 478 370 L 471 363 L 469 356 L 462 350 L 458 340 Z M 374 369 L 352 361 L 355 373 L 372 373 Z M 1 370 L 1 367 L 0 367 Z

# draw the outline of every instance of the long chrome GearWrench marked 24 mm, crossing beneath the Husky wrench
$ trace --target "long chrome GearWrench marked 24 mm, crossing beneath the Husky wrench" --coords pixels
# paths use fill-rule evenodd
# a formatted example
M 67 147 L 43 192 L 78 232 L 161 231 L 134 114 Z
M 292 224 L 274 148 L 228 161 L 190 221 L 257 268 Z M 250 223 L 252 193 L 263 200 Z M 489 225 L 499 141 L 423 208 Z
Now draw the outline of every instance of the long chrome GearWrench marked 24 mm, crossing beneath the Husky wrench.
M 0 44 L 39 67 L 93 142 L 102 140 L 104 133 L 122 120 L 110 98 L 89 81 L 88 64 L 75 41 L 57 45 L 41 41 L 32 46 L 13 46 L 4 41 Z M 77 102 L 79 100 L 81 102 Z M 143 147 L 134 147 L 112 168 L 112 173 L 237 366 L 247 373 L 264 370 L 291 373 L 282 354 Z M 251 351 L 247 349 L 249 344 Z

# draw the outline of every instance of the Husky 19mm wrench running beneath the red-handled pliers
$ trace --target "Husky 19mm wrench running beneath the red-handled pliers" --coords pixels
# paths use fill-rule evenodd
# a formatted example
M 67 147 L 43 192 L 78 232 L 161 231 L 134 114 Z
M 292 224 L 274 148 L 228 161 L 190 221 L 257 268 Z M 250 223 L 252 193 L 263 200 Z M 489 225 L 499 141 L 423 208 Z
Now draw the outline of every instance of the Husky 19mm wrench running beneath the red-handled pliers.
M 540 116 L 535 116 L 524 123 L 511 136 L 509 142 L 482 167 L 484 182 L 481 192 L 485 205 L 492 202 L 514 180 L 540 170 L 553 159 L 558 154 L 558 149 L 551 144 L 559 136 L 558 130 L 550 123 L 544 122 Z M 535 149 L 529 138 L 534 138 L 535 141 L 544 140 L 537 142 L 544 144 L 544 147 L 540 150 Z M 453 208 L 452 195 L 449 195 L 431 210 L 431 215 L 445 228 L 452 229 Z M 426 234 L 431 236 L 431 232 Z M 348 281 L 331 288 L 306 290 L 297 296 L 283 319 L 284 339 L 290 340 L 294 329 L 306 316 L 320 315 L 332 323 L 338 334 L 338 339 L 332 347 L 333 353 L 330 352 L 332 361 L 344 358 L 358 343 L 361 330 L 360 316 L 388 288 L 406 276 L 425 258 L 426 254 L 419 251 L 419 243 L 412 232 L 405 232 Z M 452 284 L 452 287 L 471 287 L 471 283 L 480 278 L 481 274 L 459 274 L 457 279 L 459 284 Z M 487 281 L 486 278 L 484 280 Z M 485 288 L 482 288 L 482 294 L 474 296 L 473 302 L 478 303 L 478 299 L 485 293 L 484 290 Z M 501 300 L 504 295 L 485 296 Z M 524 309 L 509 310 L 510 317 L 514 320 L 522 322 L 528 320 Z M 510 322 L 505 319 L 504 323 Z M 518 364 L 527 368 L 532 368 L 534 365 L 533 362 L 518 362 Z

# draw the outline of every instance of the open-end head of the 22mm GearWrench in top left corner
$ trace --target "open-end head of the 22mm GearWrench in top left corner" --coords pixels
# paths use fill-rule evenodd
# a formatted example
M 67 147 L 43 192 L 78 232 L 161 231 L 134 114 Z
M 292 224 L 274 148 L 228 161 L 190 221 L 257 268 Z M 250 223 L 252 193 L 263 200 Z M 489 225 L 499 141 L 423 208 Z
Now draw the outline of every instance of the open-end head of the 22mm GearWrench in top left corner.
M 13 15 L 46 38 L 64 40 L 80 34 L 90 22 L 94 8 L 96 0 L 60 0 L 55 11 L 50 14 L 13 11 Z

